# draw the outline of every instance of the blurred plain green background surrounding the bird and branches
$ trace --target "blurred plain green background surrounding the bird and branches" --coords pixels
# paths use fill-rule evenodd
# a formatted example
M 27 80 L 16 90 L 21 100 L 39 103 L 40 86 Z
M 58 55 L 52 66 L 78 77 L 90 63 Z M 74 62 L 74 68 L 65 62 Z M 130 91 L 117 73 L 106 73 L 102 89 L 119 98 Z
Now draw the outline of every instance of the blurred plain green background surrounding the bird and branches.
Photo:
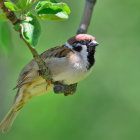
M 70 18 L 42 22 L 40 53 L 63 44 L 79 25 L 85 1 L 63 1 L 71 8 Z M 92 74 L 73 96 L 49 93 L 31 100 L 0 140 L 139 140 L 139 6 L 139 0 L 97 0 L 88 31 L 100 43 Z M 20 70 L 32 59 L 18 33 L 9 28 L 11 52 L 0 52 L 0 120 L 12 104 Z

